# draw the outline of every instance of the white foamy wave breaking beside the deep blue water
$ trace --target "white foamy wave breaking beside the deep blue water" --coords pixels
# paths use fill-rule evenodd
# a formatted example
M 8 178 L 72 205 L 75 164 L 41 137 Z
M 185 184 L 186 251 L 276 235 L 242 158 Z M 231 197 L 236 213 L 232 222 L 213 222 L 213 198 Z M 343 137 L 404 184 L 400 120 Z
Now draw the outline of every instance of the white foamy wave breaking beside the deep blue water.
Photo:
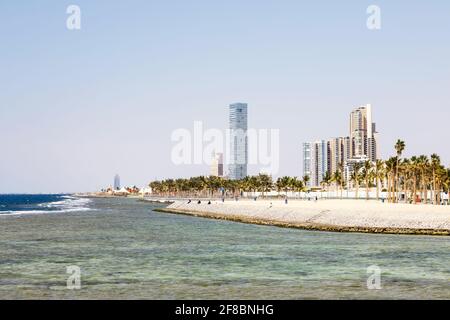
M 0 211 L 0 216 L 24 215 L 24 214 L 43 214 L 43 213 L 66 213 L 66 212 L 82 212 L 94 210 L 88 207 L 92 202 L 91 199 L 77 198 L 73 196 L 62 196 L 63 200 L 48 203 L 40 203 L 37 207 L 39 210 L 10 210 Z

